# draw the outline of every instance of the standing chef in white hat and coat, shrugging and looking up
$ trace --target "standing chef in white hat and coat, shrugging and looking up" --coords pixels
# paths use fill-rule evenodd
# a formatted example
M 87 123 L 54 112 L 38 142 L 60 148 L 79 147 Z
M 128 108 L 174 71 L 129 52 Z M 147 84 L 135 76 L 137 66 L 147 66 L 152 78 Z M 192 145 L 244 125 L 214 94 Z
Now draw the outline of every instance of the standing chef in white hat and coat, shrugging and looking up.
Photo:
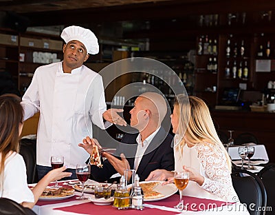
M 99 51 L 95 34 L 73 25 L 63 30 L 61 38 L 65 41 L 63 61 L 37 68 L 21 102 L 24 120 L 40 112 L 36 150 L 39 179 L 52 170 L 52 155 L 63 155 L 66 171 L 76 178 L 76 165 L 85 163 L 89 156 L 78 143 L 93 134 L 92 123 L 104 129 L 104 118 L 126 125 L 118 115 L 123 110 L 106 110 L 102 76 L 83 65 L 89 54 Z

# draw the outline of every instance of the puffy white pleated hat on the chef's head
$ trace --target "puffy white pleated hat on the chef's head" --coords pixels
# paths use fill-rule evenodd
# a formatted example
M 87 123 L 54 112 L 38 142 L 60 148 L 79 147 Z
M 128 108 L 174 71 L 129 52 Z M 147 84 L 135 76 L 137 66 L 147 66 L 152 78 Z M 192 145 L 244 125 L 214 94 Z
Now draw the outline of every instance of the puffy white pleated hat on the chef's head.
M 89 54 L 98 54 L 99 45 L 96 35 L 87 28 L 79 26 L 69 26 L 64 28 L 61 33 L 61 38 L 64 39 L 65 43 L 72 40 L 77 40 L 85 45 L 85 48 Z

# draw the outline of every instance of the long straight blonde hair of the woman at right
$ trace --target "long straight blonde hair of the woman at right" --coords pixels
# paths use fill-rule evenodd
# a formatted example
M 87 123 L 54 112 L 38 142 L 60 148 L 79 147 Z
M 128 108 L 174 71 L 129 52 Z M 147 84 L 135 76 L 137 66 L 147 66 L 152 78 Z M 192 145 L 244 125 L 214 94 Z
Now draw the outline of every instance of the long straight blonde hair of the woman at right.
M 177 149 L 182 149 L 186 144 L 184 136 L 193 144 L 208 142 L 214 148 L 219 148 L 224 152 L 231 171 L 230 156 L 219 139 L 206 103 L 196 96 L 179 94 L 175 98 L 174 108 L 177 108 L 175 111 L 179 114 L 177 134 L 181 138 Z

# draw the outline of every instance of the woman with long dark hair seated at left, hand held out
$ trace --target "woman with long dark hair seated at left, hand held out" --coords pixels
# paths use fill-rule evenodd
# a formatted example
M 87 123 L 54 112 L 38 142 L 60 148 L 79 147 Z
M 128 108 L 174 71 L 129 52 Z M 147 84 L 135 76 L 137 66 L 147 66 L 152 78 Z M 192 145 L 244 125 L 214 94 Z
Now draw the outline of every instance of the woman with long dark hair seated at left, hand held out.
M 30 190 L 26 167 L 19 152 L 19 136 L 23 128 L 21 99 L 14 94 L 0 96 L 0 196 L 32 208 L 47 185 L 71 176 L 61 167 L 49 172 Z

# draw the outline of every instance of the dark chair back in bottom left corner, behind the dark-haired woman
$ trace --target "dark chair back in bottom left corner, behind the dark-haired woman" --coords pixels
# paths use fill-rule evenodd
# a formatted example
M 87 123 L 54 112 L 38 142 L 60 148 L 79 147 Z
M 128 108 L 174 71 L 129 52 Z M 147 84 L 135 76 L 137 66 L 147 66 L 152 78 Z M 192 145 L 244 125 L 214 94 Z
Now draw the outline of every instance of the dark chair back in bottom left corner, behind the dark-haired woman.
M 0 198 L 0 214 L 1 215 L 36 215 L 34 211 L 28 207 L 23 207 L 19 203 L 9 199 Z

